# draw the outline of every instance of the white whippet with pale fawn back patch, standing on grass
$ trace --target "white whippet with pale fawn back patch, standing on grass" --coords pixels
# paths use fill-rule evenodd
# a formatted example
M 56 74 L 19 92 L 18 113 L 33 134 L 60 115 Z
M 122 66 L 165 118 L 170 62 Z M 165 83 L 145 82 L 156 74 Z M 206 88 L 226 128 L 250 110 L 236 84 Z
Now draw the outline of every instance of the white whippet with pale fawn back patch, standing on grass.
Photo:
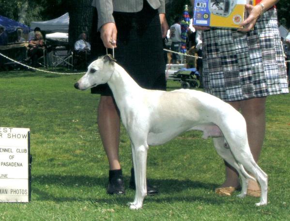
M 131 140 L 136 194 L 130 208 L 141 208 L 146 196 L 149 146 L 164 144 L 190 130 L 203 131 L 203 138 L 213 137 L 217 153 L 239 172 L 242 179 L 239 197 L 246 195 L 248 179 L 256 177 L 261 187 L 256 205 L 267 204 L 267 175 L 253 159 L 243 116 L 228 103 L 198 90 L 141 88 L 110 55 L 93 61 L 75 88 L 85 90 L 104 83 L 113 92 Z

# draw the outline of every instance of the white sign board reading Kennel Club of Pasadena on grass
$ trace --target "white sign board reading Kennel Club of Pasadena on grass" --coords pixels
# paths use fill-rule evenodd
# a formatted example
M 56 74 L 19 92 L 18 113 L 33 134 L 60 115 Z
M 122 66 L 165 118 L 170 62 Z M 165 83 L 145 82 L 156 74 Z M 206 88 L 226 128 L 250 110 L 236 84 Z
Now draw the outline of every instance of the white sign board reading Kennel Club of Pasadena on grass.
M 30 129 L 0 127 L 0 202 L 29 202 L 30 163 Z

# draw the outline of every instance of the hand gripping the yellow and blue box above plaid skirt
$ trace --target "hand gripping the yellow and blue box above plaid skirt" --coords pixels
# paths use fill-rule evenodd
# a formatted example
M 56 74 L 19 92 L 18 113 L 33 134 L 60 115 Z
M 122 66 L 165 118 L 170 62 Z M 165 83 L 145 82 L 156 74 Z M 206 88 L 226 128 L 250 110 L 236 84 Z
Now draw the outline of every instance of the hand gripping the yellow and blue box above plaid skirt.
M 240 29 L 238 31 L 250 31 L 256 25 L 257 19 L 259 18 L 262 8 L 259 5 L 253 6 L 246 4 L 245 9 L 248 11 L 249 16 L 240 24 Z M 244 27 L 244 28 L 243 28 Z

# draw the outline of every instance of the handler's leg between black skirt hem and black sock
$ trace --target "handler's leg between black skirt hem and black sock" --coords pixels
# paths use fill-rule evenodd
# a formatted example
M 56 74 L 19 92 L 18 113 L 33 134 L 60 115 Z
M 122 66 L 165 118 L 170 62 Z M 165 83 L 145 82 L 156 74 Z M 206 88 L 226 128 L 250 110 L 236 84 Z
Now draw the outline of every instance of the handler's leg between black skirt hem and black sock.
M 111 96 L 100 98 L 98 127 L 109 161 L 109 169 L 121 169 L 119 162 L 120 113 Z

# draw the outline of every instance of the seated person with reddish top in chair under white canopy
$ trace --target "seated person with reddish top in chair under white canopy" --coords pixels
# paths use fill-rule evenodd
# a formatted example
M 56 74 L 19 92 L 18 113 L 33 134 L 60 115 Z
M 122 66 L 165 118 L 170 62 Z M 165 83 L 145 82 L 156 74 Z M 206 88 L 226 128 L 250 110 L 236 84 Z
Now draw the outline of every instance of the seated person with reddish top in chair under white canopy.
M 37 60 L 43 56 L 44 50 L 46 49 L 43 37 L 40 31 L 35 31 L 34 39 L 29 41 L 28 45 L 28 56 L 25 61 L 31 60 L 32 66 L 37 66 Z

